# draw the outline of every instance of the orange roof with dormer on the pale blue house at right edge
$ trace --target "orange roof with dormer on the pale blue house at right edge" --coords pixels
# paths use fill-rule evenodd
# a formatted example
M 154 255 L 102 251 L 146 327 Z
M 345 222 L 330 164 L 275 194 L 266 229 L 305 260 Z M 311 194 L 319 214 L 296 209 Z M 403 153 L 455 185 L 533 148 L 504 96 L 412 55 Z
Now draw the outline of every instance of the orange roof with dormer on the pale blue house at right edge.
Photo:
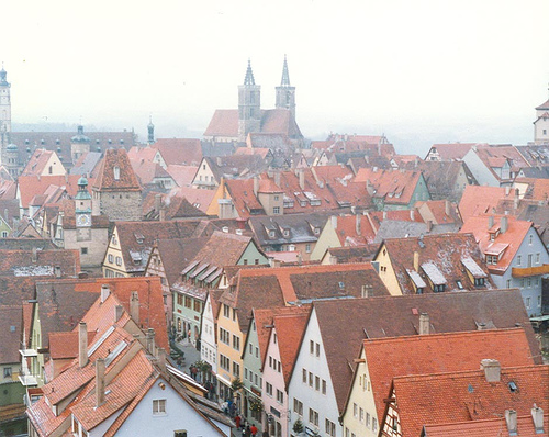
M 489 227 L 490 217 L 493 217 L 492 227 Z M 505 232 L 501 232 L 502 220 L 507 220 L 507 231 Z M 517 220 L 513 215 L 478 215 L 463 223 L 460 234 L 473 234 L 482 254 L 497 255 L 497 264 L 488 267 L 490 272 L 503 274 L 511 267 L 511 262 L 531 226 L 531 222 Z M 496 234 L 494 239 L 491 239 L 491 233 Z M 502 251 L 503 255 L 500 255 Z

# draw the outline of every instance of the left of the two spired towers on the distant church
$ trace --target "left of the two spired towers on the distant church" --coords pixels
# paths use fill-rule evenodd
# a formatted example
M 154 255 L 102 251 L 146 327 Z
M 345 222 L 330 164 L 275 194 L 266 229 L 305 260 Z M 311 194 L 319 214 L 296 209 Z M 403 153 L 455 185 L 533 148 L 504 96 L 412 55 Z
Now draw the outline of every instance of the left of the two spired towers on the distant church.
M 256 85 L 251 64 L 248 68 L 244 85 L 238 86 L 238 142 L 244 143 L 250 132 L 261 131 L 261 87 Z

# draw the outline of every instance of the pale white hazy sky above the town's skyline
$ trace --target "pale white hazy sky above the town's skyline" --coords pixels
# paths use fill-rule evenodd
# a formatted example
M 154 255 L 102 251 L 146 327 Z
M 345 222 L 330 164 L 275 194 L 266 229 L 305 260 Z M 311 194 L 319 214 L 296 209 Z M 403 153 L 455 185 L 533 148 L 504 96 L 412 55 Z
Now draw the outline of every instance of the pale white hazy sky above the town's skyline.
M 248 57 L 261 107 L 288 55 L 303 134 L 524 144 L 549 97 L 548 0 L 8 1 L 14 123 L 81 121 L 199 137 L 237 107 Z

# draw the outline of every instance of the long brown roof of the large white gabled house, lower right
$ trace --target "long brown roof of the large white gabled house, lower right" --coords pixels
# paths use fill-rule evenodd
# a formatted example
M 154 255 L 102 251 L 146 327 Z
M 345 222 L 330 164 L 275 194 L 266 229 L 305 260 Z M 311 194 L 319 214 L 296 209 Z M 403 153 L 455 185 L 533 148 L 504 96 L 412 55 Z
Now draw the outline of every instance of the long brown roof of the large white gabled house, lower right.
M 519 323 L 526 330 L 534 361 L 541 362 L 539 344 L 518 290 L 316 301 L 313 311 L 318 321 L 339 412 L 345 406 L 354 376 L 354 360 L 359 357 L 363 340 L 417 335 L 422 313 L 429 315 L 434 333 L 477 330 L 481 323 L 511 328 Z

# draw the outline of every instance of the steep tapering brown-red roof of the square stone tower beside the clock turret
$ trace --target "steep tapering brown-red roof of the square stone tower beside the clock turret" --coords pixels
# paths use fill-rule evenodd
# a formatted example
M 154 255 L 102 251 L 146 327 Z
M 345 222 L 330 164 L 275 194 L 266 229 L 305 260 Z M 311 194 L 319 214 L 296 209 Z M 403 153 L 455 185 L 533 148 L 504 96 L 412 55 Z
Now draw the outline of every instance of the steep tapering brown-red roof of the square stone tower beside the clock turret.
M 115 173 L 115 168 L 119 169 L 117 173 Z M 141 191 L 139 181 L 125 149 L 110 148 L 105 150 L 92 189 L 98 191 Z

